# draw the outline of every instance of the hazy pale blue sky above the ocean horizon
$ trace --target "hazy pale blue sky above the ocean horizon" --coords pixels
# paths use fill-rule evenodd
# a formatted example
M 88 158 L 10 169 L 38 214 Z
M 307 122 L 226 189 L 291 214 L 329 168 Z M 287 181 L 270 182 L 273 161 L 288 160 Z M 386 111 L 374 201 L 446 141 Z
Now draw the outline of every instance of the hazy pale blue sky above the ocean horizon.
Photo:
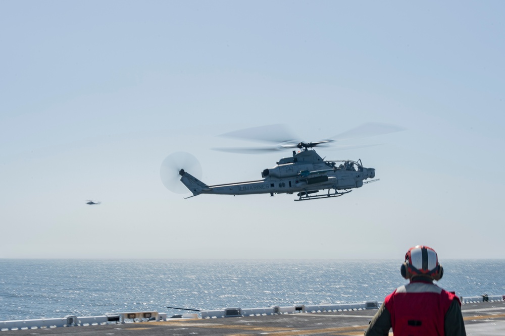
M 0 258 L 505 258 L 505 3 L 0 2 Z M 380 182 L 334 199 L 184 196 L 160 165 L 248 181 L 283 123 Z M 255 143 L 250 143 L 255 145 Z M 349 142 L 348 144 L 357 144 Z M 89 206 L 86 199 L 100 200 Z

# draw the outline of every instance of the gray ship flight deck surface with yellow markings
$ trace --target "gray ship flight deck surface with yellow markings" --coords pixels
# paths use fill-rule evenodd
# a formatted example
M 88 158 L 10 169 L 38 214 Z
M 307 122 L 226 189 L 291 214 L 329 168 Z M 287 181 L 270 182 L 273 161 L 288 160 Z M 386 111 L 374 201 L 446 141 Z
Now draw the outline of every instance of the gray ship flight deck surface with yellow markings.
M 467 334 L 505 334 L 505 302 L 462 306 Z M 108 335 L 108 336 L 246 336 L 246 335 L 362 335 L 375 309 L 345 312 L 296 313 L 214 319 L 170 319 L 162 322 L 122 323 L 0 331 L 3 335 Z

